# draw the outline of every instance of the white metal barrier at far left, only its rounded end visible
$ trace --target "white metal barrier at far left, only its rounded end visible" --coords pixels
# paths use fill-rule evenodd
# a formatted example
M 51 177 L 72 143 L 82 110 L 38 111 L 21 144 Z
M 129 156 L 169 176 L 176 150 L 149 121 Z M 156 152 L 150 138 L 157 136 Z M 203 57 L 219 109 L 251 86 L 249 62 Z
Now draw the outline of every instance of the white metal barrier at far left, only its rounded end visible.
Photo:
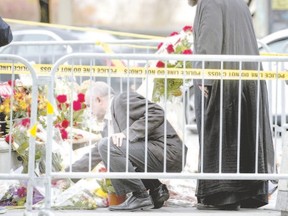
M 37 77 L 36 77 L 36 72 L 34 68 L 27 62 L 27 60 L 15 56 L 15 55 L 0 55 L 0 78 L 1 78 L 1 83 L 4 81 L 10 82 L 10 87 L 11 89 L 6 91 L 5 94 L 7 94 L 5 97 L 10 97 L 11 103 L 8 105 L 8 107 L 13 107 L 13 100 L 16 100 L 16 96 L 14 95 L 14 92 L 16 92 L 16 82 L 15 82 L 15 77 L 16 74 L 21 71 L 21 68 L 28 72 L 31 78 L 32 82 L 32 88 L 31 88 L 31 98 L 37 99 L 38 97 L 38 88 L 37 88 Z M 2 73 L 3 71 L 8 71 L 8 73 Z M 3 84 L 3 83 L 2 83 Z M 2 92 L 3 93 L 3 92 Z M 15 93 L 16 94 L 16 93 Z M 3 96 L 3 95 L 1 95 Z M 3 100 L 3 97 L 1 98 Z M 3 101 L 2 101 L 3 102 Z M 1 103 L 2 103 L 1 102 Z M 10 106 L 11 105 L 11 106 Z M 33 126 L 36 124 L 37 121 L 37 100 L 32 100 L 31 101 L 31 107 L 30 107 L 30 116 L 26 117 L 29 119 L 30 125 Z M 3 106 L 3 104 L 1 104 Z M 6 117 L 8 118 L 2 119 L 1 126 L 5 125 L 7 123 L 8 128 L 12 128 L 13 124 L 18 120 L 15 118 L 15 114 L 17 110 L 13 110 L 12 108 L 10 109 L 10 112 L 6 114 Z M 3 113 L 2 113 L 3 114 Z M 4 129 L 4 128 L 3 128 Z M 5 133 L 5 131 L 2 131 Z M 25 131 L 26 132 L 26 131 Z M 7 134 L 7 136 L 11 135 L 12 131 L 10 130 Z M 3 134 L 2 134 L 3 135 Z M 35 137 L 34 136 L 29 136 L 29 148 L 27 149 L 27 156 L 28 156 L 28 161 L 27 162 L 27 171 L 26 173 L 17 173 L 14 172 L 14 170 L 17 167 L 20 167 L 21 164 L 19 161 L 16 159 L 16 153 L 12 149 L 12 140 L 9 140 L 9 144 L 7 144 L 7 141 L 4 141 L 4 136 L 1 138 L 1 147 L 4 147 L 1 151 L 1 173 L 0 173 L 0 181 L 3 183 L 3 181 L 11 181 L 11 180 L 21 180 L 25 182 L 25 186 L 27 188 L 27 198 L 26 198 L 26 210 L 30 211 L 32 210 L 32 199 L 33 199 L 33 190 L 34 186 L 36 184 L 36 176 L 35 176 Z M 23 160 L 22 160 L 23 162 Z M 2 194 L 4 195 L 4 194 Z

